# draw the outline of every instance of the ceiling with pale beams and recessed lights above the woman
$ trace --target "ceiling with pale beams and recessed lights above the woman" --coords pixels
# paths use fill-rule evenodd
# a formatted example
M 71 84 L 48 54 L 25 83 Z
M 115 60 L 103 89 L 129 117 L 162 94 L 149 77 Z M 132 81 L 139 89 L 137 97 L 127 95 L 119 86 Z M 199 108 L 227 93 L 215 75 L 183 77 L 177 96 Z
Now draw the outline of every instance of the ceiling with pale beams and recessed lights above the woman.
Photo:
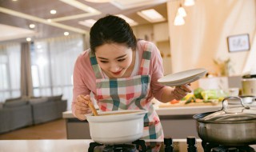
M 86 0 L 0 0 L 0 42 L 25 41 L 28 36 L 32 39 L 53 38 L 63 36 L 66 31 L 70 34 L 88 34 L 90 27 L 78 22 L 97 20 L 106 14 L 124 14 L 138 22 L 138 26 L 150 24 L 137 12 L 154 8 L 167 19 L 166 2 L 167 0 L 111 0 L 104 3 Z M 57 10 L 57 13 L 50 14 L 50 10 Z M 29 27 L 31 23 L 35 25 L 34 29 Z M 19 30 L 22 30 L 22 34 Z M 26 31 L 27 35 L 24 34 Z

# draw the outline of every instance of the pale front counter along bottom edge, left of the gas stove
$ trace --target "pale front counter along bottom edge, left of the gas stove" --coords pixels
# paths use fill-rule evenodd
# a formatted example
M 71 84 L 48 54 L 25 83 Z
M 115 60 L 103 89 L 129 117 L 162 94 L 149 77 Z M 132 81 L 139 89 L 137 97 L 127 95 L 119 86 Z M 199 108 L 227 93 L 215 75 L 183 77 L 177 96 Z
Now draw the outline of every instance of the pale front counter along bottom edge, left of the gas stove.
M 186 139 L 174 139 L 173 141 L 176 149 L 186 151 Z M 197 141 L 200 142 L 201 140 L 197 139 Z M 0 152 L 87 152 L 90 142 L 93 141 L 82 139 L 0 140 Z M 202 146 L 198 143 L 198 152 L 202 151 Z

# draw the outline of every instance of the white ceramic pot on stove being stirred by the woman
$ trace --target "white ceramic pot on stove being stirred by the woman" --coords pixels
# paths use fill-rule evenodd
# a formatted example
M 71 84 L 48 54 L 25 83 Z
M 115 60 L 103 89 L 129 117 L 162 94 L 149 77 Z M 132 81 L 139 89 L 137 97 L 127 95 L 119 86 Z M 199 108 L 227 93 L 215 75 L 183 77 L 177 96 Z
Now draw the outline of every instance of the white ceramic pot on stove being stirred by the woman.
M 118 114 L 133 112 L 129 114 Z M 142 138 L 146 110 L 118 110 L 99 112 L 98 114 L 114 114 L 93 116 L 86 114 L 89 122 L 90 137 L 94 142 L 102 144 L 122 144 L 134 142 Z

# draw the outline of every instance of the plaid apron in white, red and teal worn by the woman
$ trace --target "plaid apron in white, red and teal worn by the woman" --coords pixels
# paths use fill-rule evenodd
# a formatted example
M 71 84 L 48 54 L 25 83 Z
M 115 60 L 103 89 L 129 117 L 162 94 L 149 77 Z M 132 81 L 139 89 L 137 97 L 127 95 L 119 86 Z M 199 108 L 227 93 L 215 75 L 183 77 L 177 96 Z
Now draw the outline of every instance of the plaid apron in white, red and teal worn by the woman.
M 147 99 L 150 91 L 150 57 L 151 47 L 146 45 L 138 75 L 129 78 L 104 78 L 96 57 L 90 53 L 90 62 L 96 76 L 97 89 L 94 95 L 101 111 L 147 110 L 142 139 L 162 139 L 163 132 L 158 114 L 152 102 Z

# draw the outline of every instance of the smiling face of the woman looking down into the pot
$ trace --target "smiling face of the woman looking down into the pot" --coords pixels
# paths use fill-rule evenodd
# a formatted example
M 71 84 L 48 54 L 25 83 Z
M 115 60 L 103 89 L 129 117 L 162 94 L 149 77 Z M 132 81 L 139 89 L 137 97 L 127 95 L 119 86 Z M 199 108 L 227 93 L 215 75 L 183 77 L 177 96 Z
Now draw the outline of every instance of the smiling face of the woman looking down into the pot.
M 95 56 L 109 78 L 122 78 L 133 61 L 133 50 L 124 44 L 106 43 L 95 48 Z

